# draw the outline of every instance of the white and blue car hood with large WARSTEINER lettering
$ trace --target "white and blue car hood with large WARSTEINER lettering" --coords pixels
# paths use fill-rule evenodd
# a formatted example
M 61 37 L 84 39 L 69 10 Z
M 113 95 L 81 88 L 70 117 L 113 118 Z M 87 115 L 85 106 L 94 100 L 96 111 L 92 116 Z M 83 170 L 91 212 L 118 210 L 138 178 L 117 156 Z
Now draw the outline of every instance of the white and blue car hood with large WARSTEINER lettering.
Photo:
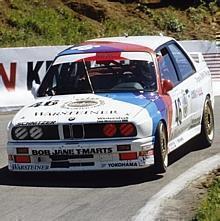
M 138 120 L 154 97 L 144 94 L 77 94 L 44 97 L 21 109 L 12 124 L 62 124 Z M 143 117 L 143 115 L 141 114 Z M 149 117 L 149 116 L 148 116 Z M 139 116 L 141 121 L 141 117 Z

